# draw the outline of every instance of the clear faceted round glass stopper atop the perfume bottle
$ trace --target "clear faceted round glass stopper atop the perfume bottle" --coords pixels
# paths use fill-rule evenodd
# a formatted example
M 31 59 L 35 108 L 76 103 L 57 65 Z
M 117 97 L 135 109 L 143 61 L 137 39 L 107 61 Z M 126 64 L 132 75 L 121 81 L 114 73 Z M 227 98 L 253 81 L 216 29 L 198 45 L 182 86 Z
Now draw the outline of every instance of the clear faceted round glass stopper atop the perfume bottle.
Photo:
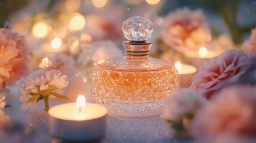
M 124 21 L 122 30 L 128 41 L 147 41 L 153 32 L 153 23 L 147 18 L 135 16 Z

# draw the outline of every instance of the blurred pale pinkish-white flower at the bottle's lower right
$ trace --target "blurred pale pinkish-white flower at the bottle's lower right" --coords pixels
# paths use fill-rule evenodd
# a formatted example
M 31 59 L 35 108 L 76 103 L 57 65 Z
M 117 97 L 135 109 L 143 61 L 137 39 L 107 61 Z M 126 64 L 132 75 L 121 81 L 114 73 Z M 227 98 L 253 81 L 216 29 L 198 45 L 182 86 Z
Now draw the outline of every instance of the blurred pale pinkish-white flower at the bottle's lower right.
M 174 95 L 166 98 L 163 117 L 171 123 L 188 122 L 205 102 L 197 92 L 186 88 L 178 89 Z M 186 128 L 186 125 L 184 126 Z

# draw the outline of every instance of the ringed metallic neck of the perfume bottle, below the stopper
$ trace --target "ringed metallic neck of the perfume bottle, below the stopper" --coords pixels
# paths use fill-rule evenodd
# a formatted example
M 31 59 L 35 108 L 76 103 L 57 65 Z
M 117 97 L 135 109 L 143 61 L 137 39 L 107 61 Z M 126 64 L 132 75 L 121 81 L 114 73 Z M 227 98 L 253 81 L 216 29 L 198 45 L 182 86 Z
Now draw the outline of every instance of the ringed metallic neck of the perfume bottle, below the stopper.
M 124 41 L 125 55 L 128 60 L 145 60 L 149 57 L 151 42 Z

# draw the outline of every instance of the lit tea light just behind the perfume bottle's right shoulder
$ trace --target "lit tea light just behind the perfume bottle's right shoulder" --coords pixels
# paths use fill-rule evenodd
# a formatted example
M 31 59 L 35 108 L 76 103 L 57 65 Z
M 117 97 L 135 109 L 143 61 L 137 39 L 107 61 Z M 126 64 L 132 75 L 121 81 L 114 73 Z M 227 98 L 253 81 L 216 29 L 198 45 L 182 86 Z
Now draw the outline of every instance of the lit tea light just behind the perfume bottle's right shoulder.
M 196 67 L 187 64 L 181 64 L 180 61 L 177 61 L 175 63 L 175 68 L 180 74 L 180 86 L 188 88 L 193 82 L 193 76 L 195 76 L 197 71 Z

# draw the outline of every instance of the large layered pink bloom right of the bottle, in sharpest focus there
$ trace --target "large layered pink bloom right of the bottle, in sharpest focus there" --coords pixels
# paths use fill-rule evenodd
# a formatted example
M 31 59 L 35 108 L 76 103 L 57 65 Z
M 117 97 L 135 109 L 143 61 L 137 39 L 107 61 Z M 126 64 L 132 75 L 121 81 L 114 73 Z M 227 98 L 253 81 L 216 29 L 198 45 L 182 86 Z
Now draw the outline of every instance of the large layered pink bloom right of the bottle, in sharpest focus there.
M 251 83 L 255 66 L 255 62 L 243 50 L 227 49 L 203 63 L 199 73 L 193 77 L 190 89 L 209 99 L 224 86 Z

